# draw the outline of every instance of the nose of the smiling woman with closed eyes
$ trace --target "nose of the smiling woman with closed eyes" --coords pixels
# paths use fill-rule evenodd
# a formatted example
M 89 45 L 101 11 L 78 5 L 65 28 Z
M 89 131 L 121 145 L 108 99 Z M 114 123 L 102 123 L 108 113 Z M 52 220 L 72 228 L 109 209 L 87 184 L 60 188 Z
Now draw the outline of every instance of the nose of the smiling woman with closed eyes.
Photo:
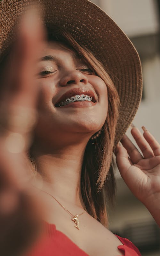
M 60 80 L 61 86 L 66 86 L 68 84 L 87 84 L 88 79 L 82 72 L 78 70 L 71 71 L 66 76 L 62 77 Z

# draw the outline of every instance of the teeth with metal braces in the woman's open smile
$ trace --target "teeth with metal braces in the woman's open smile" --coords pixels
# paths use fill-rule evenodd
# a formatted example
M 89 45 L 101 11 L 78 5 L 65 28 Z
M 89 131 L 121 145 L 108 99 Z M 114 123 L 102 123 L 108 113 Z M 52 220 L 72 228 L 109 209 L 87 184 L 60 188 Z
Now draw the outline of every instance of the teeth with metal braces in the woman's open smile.
M 60 108 L 60 107 L 63 107 L 63 106 L 65 106 L 65 105 L 69 105 L 69 104 L 71 104 L 72 102 L 75 102 L 75 101 L 79 101 L 79 102 L 80 102 L 80 101 L 92 101 L 92 102 L 94 102 L 94 100 L 92 100 L 92 97 L 89 96 L 89 95 L 86 95 L 86 94 L 77 94 L 77 95 L 75 95 L 75 96 L 72 96 L 72 97 L 70 97 L 70 98 L 67 98 L 67 99 L 65 99 L 65 100 L 63 100 L 63 101 L 57 103 L 57 104 L 55 105 L 55 107 Z M 96 101 L 95 101 L 95 102 L 96 102 Z

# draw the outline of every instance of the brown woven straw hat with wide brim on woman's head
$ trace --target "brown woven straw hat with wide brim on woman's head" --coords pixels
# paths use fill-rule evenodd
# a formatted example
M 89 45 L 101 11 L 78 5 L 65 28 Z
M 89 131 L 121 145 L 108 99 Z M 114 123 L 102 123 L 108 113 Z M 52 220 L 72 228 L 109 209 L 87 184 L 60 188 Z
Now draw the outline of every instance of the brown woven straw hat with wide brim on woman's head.
M 30 0 L 0 2 L 0 59 L 12 44 L 12 28 Z M 88 0 L 38 0 L 45 21 L 65 28 L 89 48 L 110 74 L 121 101 L 115 145 L 131 124 L 142 94 L 141 64 L 133 44 L 116 23 Z

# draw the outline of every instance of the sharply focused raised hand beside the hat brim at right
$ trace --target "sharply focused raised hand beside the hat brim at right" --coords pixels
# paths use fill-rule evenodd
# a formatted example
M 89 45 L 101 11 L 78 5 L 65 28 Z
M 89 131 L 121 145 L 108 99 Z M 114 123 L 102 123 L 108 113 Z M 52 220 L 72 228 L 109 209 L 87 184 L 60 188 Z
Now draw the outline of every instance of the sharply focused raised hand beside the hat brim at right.
M 124 135 L 122 145 L 116 148 L 116 163 L 128 188 L 160 226 L 160 145 L 145 127 L 142 128 L 143 135 L 136 127 L 131 133 L 143 155 Z

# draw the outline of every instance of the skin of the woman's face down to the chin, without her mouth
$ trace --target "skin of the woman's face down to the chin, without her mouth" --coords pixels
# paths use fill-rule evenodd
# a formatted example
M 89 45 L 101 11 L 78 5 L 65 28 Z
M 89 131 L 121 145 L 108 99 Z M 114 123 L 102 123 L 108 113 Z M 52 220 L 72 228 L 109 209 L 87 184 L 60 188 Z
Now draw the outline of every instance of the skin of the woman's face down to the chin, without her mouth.
M 56 61 L 41 61 L 39 70 L 52 70 L 53 73 L 39 76 L 39 125 L 44 124 L 45 137 L 49 133 L 53 147 L 63 147 L 75 141 L 85 143 L 105 122 L 108 110 L 107 86 L 103 80 L 88 71 L 89 66 L 78 57 L 72 58 L 73 52 L 56 42 L 49 43 L 44 56 L 52 55 Z M 86 70 L 85 70 L 86 69 Z M 70 82 L 71 81 L 71 82 Z M 67 84 L 69 82 L 69 84 Z M 97 103 L 85 108 L 56 108 L 54 104 L 62 94 L 72 88 L 86 88 L 94 92 Z M 45 120 L 45 122 L 44 122 Z M 46 127 L 47 124 L 47 127 Z M 46 130 L 47 128 L 47 130 Z M 38 127 L 36 133 L 38 131 Z M 77 134 L 78 133 L 78 134 Z M 78 136 L 77 136 L 78 135 Z M 40 134 L 42 136 L 42 134 Z M 63 146 L 60 145 L 59 136 Z

